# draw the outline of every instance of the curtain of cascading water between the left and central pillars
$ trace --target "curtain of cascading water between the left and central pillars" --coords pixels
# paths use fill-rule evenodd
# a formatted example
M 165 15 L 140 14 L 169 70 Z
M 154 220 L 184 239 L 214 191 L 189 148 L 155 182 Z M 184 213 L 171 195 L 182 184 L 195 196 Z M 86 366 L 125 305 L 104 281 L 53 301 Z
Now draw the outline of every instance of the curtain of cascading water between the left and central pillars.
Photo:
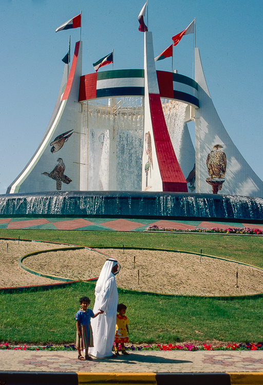
M 84 109 L 83 164 L 88 190 L 141 190 L 143 149 L 142 98 L 89 101 Z M 84 172 L 83 172 L 84 176 Z

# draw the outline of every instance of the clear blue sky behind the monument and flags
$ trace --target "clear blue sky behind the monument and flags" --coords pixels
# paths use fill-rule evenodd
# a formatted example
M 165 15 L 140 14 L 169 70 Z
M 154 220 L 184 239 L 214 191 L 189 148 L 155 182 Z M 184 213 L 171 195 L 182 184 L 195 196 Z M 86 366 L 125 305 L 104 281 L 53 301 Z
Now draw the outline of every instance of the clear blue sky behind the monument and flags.
M 114 69 L 143 68 L 143 33 L 138 31 L 143 5 L 144 0 L 0 1 L 0 194 L 44 135 L 59 93 L 69 34 L 72 53 L 80 40 L 79 28 L 55 29 L 82 10 L 83 74 L 94 72 L 92 63 L 112 48 Z M 148 0 L 155 56 L 196 18 L 196 47 L 219 118 L 261 180 L 262 16 L 262 0 Z M 183 36 L 174 47 L 174 69 L 190 77 L 193 37 Z M 171 58 L 157 62 L 156 69 L 171 71 Z M 189 128 L 194 138 L 194 123 Z

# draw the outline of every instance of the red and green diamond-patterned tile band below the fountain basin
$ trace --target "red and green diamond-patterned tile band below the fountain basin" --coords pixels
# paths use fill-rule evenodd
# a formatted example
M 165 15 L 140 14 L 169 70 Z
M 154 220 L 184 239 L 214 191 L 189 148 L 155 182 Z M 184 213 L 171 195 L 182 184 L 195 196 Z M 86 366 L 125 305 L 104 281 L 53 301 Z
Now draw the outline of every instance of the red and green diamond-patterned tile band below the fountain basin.
M 127 219 L 127 218 L 0 218 L 0 228 L 7 229 L 43 229 L 43 230 L 108 230 L 108 231 L 133 231 L 143 232 L 147 226 L 156 224 L 161 227 L 174 227 L 185 230 L 186 228 L 228 228 L 252 227 L 263 230 L 263 221 L 260 224 L 235 223 L 235 222 L 206 222 L 206 221 L 179 221 L 156 219 Z

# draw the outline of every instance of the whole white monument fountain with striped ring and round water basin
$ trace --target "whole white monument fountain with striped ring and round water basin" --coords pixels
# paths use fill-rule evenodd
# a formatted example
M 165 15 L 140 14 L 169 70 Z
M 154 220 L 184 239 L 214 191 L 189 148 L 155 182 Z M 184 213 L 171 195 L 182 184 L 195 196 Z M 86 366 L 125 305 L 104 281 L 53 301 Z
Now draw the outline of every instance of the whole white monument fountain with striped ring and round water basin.
M 0 216 L 263 220 L 263 182 L 218 118 L 199 50 L 197 83 L 156 71 L 152 33 L 144 38 L 144 70 L 87 75 L 82 42 L 76 43 L 46 133 L 0 196 Z M 196 149 L 189 121 L 196 125 Z M 216 181 L 205 165 L 213 146 L 228 159 L 226 176 Z

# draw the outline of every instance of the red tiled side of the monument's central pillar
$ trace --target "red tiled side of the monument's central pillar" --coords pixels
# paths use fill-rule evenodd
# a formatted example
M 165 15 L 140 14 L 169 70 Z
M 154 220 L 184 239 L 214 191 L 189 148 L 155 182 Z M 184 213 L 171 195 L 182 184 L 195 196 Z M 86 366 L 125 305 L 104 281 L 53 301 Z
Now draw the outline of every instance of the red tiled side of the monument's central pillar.
M 159 94 L 149 93 L 149 106 L 163 191 L 187 192 L 187 183 L 167 130 Z

